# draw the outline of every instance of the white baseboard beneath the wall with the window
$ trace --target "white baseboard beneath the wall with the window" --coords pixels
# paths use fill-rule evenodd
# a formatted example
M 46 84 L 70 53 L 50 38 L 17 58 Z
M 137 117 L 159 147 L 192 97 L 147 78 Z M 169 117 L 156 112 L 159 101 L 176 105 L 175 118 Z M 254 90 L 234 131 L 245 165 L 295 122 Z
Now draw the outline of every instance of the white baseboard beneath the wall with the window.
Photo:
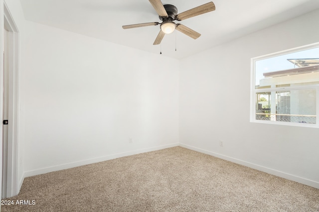
M 236 158 L 233 158 L 233 157 L 229 157 L 229 156 L 226 156 L 226 155 L 223 155 L 223 154 L 215 153 L 215 152 L 212 152 L 212 151 L 207 151 L 205 149 L 197 148 L 195 146 L 190 146 L 190 145 L 186 145 L 186 144 L 182 144 L 182 143 L 179 143 L 179 146 L 184 147 L 184 148 L 188 148 L 188 149 L 191 149 L 191 150 L 194 150 L 194 151 L 198 151 L 198 152 L 201 152 L 201 153 L 209 154 L 209 155 L 212 155 L 214 157 L 218 157 L 218 158 L 221 158 L 221 159 L 224 159 L 224 160 L 228 160 L 228 161 L 240 164 L 240 165 L 244 165 L 244 166 L 259 170 L 259 171 L 266 172 L 268 174 L 272 174 L 272 175 L 275 175 L 275 176 L 278 176 L 278 177 L 282 177 L 282 178 L 285 178 L 285 179 L 288 179 L 288 180 L 292 180 L 292 181 L 295 181 L 295 182 L 298 182 L 298 183 L 302 183 L 302 184 L 305 184 L 305 185 L 308 185 L 308 186 L 311 186 L 311 187 L 319 189 L 319 182 L 316 182 L 316 181 L 308 180 L 308 179 L 305 179 L 305 178 L 302 178 L 302 177 L 298 177 L 298 176 L 291 175 L 291 174 L 288 174 L 288 173 L 285 173 L 285 172 L 281 172 L 281 171 L 278 171 L 278 170 L 274 170 L 274 169 L 271 169 L 271 168 L 260 166 L 260 165 L 254 164 L 254 163 L 250 163 L 250 162 L 246 162 L 246 161 L 243 161 L 243 160 L 239 160 L 239 159 L 236 159 Z

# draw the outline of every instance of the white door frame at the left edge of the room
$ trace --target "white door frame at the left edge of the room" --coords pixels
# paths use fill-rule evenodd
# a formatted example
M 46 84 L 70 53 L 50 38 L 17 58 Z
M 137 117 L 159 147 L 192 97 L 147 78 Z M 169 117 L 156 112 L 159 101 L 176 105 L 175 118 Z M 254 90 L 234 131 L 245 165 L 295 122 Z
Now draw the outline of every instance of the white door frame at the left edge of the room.
M 2 3 L 3 2 L 3 3 Z M 19 68 L 19 31 L 14 23 L 12 15 L 4 0 L 3 5 L 3 25 L 1 24 L 1 67 L 0 67 L 0 108 L 3 110 L 3 33 L 4 27 L 8 33 L 8 83 L 9 83 L 9 112 L 8 112 L 8 144 L 7 144 L 7 180 L 6 194 L 3 197 L 12 197 L 18 194 L 18 68 Z M 0 113 L 1 114 L 1 113 Z M 1 122 L 2 122 L 2 114 Z M 2 132 L 1 132 L 2 138 Z M 1 151 L 2 155 L 2 151 Z M 2 156 L 1 156 L 2 160 Z M 1 173 L 2 178 L 2 173 Z M 2 181 L 2 180 L 1 180 Z

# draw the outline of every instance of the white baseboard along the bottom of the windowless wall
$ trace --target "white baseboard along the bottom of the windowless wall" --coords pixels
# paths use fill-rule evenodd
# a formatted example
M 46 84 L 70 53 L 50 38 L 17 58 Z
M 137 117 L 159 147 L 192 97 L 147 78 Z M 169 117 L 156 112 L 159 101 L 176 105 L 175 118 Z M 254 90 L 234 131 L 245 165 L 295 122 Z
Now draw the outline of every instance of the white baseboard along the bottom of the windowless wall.
M 170 148 L 170 147 L 174 147 L 174 146 L 178 146 L 178 145 L 179 145 L 179 143 L 172 143 L 172 144 L 167 144 L 167 145 L 161 145 L 161 146 L 155 146 L 155 147 L 150 147 L 150 148 L 137 149 L 137 150 L 133 150 L 133 151 L 121 152 L 121 153 L 112 154 L 112 155 L 106 155 L 103 157 L 97 157 L 97 158 L 92 158 L 92 159 L 88 159 L 88 160 L 81 160 L 81 161 L 66 163 L 66 164 L 57 165 L 57 166 L 51 166 L 51 167 L 42 168 L 42 169 L 26 171 L 26 172 L 24 172 L 23 179 L 25 177 L 30 177 L 30 176 L 34 176 L 34 175 L 45 174 L 45 173 L 59 171 L 59 170 L 68 169 L 68 168 L 74 168 L 77 166 L 83 166 L 83 165 L 87 165 L 87 164 L 91 164 L 91 163 L 102 162 L 102 161 L 106 161 L 106 160 L 130 156 L 130 155 L 134 155 L 134 154 L 140 154 L 140 153 L 149 152 L 149 151 L 156 151 L 156 150 Z M 20 182 L 21 185 L 22 185 L 23 179 Z

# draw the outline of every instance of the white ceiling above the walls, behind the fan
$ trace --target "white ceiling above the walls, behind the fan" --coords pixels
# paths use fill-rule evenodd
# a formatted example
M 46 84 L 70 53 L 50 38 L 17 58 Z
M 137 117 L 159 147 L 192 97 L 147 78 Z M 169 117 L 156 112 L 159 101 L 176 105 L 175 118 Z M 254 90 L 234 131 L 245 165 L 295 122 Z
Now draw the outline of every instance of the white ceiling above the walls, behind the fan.
M 213 0 L 215 11 L 178 22 L 199 32 L 198 39 L 175 30 L 154 46 L 160 25 L 122 29 L 122 25 L 161 22 L 149 0 L 20 1 L 26 20 L 155 54 L 160 54 L 161 48 L 162 55 L 177 59 L 319 8 L 319 0 Z M 207 2 L 162 0 L 175 5 L 178 13 Z

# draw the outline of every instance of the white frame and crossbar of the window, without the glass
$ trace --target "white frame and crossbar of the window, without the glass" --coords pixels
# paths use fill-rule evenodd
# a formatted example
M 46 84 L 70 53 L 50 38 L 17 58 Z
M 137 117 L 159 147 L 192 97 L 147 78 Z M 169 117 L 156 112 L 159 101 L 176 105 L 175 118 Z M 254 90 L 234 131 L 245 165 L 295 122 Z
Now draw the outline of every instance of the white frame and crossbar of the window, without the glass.
M 307 85 L 307 86 L 293 86 L 293 87 L 276 87 L 276 88 L 255 88 L 255 64 L 256 61 L 264 60 L 271 57 L 277 57 L 281 55 L 286 55 L 294 52 L 299 52 L 307 49 L 319 47 L 319 42 L 293 48 L 290 50 L 285 50 L 277 53 L 272 53 L 268 55 L 263 55 L 251 59 L 251 89 L 250 89 L 250 122 L 253 123 L 264 123 L 264 124 L 275 124 L 275 125 L 286 125 L 286 126 L 299 126 L 299 127 L 312 127 L 319 128 L 319 84 Z M 302 90 L 302 89 L 315 89 L 316 90 L 316 124 L 308 123 L 295 123 L 295 122 L 280 122 L 280 121 L 269 121 L 269 120 L 258 120 L 256 119 L 256 94 L 260 92 L 271 92 L 271 91 L 291 91 L 291 90 Z

